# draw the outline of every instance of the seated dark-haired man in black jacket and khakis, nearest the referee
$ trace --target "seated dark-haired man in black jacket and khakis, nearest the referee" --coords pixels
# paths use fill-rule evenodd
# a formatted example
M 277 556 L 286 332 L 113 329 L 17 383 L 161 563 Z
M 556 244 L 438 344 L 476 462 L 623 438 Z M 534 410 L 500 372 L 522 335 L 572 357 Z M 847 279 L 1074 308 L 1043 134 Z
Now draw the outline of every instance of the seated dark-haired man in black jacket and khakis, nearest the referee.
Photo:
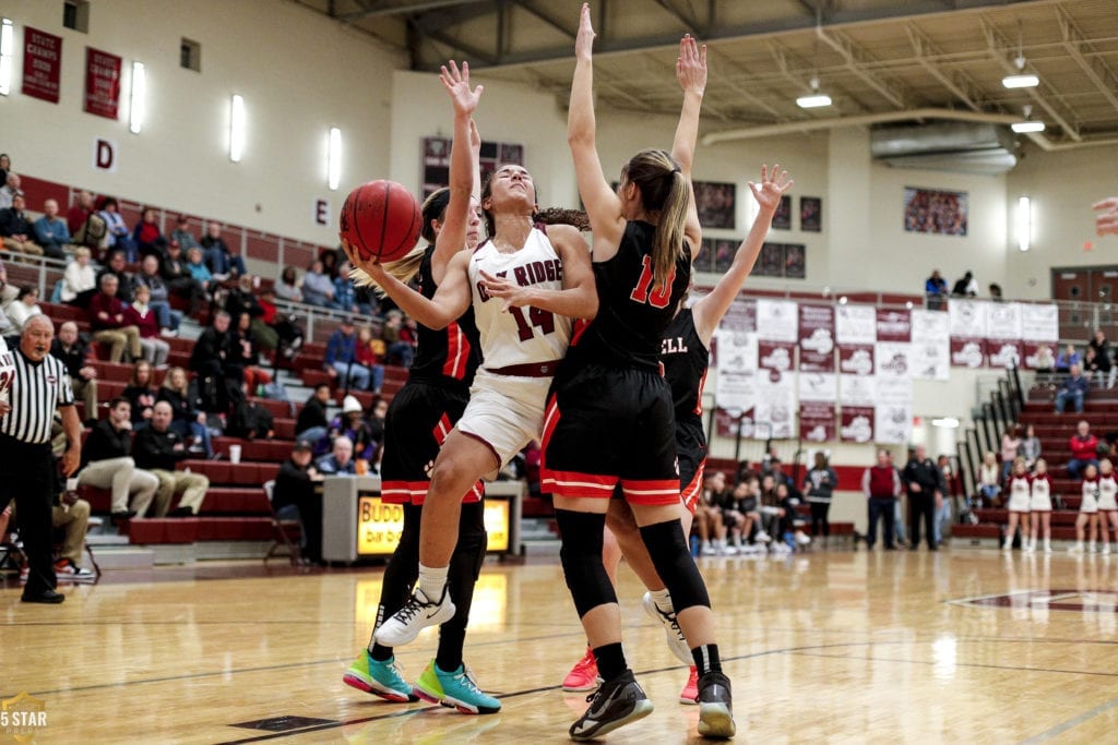
M 108 403 L 108 417 L 93 427 L 82 447 L 82 469 L 78 484 L 112 489 L 113 520 L 143 517 L 159 488 L 154 474 L 136 468 L 132 459 L 132 404 L 124 398 Z M 158 514 L 167 513 L 167 504 L 155 505 Z

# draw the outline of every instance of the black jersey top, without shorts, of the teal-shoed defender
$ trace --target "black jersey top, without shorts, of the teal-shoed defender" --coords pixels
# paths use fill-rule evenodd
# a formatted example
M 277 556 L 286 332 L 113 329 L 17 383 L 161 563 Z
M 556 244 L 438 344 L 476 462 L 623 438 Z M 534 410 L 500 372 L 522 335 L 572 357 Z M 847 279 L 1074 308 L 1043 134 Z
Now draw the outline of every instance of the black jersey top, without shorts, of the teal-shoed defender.
M 438 289 L 432 273 L 435 246 L 428 246 L 419 265 L 419 293 L 428 299 Z M 440 331 L 417 324 L 416 335 L 416 354 L 408 371 L 408 380 L 430 383 L 451 379 L 465 386 L 473 382 L 474 373 L 481 364 L 481 348 L 472 305 L 457 321 Z

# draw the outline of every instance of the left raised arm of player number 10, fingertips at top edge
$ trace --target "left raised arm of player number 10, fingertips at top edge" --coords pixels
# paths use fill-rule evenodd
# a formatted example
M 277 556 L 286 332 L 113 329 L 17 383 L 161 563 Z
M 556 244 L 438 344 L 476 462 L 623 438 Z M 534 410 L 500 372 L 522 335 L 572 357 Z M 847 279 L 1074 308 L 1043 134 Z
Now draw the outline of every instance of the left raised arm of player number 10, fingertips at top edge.
M 575 77 L 567 113 L 567 143 L 575 159 L 578 193 L 586 206 L 594 231 L 594 257 L 598 261 L 617 251 L 625 232 L 622 202 L 609 188 L 595 142 L 594 117 L 594 27 L 590 6 L 582 3 L 578 36 L 575 40 Z

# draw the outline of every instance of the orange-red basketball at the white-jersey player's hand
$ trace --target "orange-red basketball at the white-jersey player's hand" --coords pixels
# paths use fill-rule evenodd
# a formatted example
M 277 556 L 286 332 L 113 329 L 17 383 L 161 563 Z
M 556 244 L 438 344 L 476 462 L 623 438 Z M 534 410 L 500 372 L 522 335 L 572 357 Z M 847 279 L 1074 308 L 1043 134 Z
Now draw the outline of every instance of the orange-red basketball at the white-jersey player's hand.
M 419 202 L 395 181 L 370 181 L 350 192 L 342 204 L 342 238 L 364 259 L 395 261 L 419 240 Z

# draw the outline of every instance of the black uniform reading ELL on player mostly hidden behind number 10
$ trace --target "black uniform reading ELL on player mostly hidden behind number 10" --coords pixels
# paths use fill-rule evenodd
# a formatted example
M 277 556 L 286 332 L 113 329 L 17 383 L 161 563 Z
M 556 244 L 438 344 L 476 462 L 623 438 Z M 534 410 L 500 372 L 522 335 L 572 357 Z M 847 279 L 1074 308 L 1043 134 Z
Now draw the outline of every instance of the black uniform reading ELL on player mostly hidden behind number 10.
M 675 448 L 680 464 L 680 498 L 693 515 L 707 465 L 707 431 L 702 424 L 702 388 L 710 369 L 710 350 L 699 338 L 691 308 L 683 308 L 664 331 L 660 350 L 664 380 L 675 407 Z

